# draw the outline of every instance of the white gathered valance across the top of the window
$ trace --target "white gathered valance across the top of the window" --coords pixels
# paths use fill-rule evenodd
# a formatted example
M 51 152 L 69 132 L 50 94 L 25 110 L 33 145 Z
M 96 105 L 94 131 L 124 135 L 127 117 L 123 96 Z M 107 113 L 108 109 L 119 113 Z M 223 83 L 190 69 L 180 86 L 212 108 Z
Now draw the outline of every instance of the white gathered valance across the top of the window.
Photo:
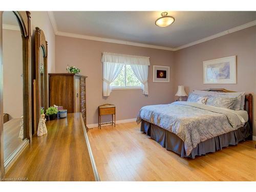
M 101 62 L 122 63 L 124 65 L 150 66 L 150 57 L 103 52 Z

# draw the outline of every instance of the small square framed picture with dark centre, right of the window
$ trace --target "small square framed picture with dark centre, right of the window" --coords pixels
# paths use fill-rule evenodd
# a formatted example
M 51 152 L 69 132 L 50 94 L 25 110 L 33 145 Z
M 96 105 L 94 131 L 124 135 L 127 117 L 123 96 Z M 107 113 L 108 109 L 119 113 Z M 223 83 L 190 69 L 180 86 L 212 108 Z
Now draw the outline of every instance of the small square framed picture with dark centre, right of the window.
M 169 82 L 170 67 L 153 66 L 153 82 Z

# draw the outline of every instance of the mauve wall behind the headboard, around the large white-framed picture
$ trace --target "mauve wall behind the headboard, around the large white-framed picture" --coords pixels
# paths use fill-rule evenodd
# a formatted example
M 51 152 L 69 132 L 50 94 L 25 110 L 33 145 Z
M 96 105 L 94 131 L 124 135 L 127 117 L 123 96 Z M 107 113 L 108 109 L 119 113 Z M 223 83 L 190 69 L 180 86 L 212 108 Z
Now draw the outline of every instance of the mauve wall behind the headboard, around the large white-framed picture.
M 174 90 L 184 85 L 189 91 L 225 88 L 246 91 L 256 96 L 256 26 L 212 39 L 174 52 Z M 203 61 L 237 55 L 237 84 L 203 84 Z M 256 136 L 256 102 L 254 98 L 254 129 Z

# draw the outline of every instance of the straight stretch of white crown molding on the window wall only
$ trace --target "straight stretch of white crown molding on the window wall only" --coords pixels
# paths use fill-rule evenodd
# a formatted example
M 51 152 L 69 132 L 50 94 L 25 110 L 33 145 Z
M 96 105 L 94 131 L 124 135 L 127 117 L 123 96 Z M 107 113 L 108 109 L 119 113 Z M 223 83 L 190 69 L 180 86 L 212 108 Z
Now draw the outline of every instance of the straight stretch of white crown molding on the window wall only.
M 123 45 L 137 46 L 137 47 L 146 47 L 146 48 L 152 48 L 152 49 L 162 49 L 162 50 L 174 51 L 173 48 L 169 48 L 169 47 L 154 46 L 154 45 L 148 45 L 148 44 L 140 44 L 138 42 L 132 42 L 132 41 L 124 41 L 124 40 L 111 39 L 111 38 L 94 37 L 94 36 L 80 35 L 80 34 L 75 34 L 75 33 L 66 33 L 66 32 L 61 32 L 61 31 L 58 31 L 56 33 L 56 35 L 66 36 L 66 37 L 74 37 L 74 38 L 81 38 L 81 39 L 87 39 L 87 40 L 112 42 L 113 44 L 123 44 Z

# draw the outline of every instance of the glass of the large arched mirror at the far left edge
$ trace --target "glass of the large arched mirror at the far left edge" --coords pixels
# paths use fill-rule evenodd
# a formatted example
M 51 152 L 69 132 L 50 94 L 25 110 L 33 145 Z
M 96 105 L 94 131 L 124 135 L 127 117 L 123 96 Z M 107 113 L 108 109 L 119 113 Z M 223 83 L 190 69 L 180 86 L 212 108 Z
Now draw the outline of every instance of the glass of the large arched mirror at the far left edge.
M 23 40 L 16 15 L 3 13 L 4 161 L 24 140 Z

